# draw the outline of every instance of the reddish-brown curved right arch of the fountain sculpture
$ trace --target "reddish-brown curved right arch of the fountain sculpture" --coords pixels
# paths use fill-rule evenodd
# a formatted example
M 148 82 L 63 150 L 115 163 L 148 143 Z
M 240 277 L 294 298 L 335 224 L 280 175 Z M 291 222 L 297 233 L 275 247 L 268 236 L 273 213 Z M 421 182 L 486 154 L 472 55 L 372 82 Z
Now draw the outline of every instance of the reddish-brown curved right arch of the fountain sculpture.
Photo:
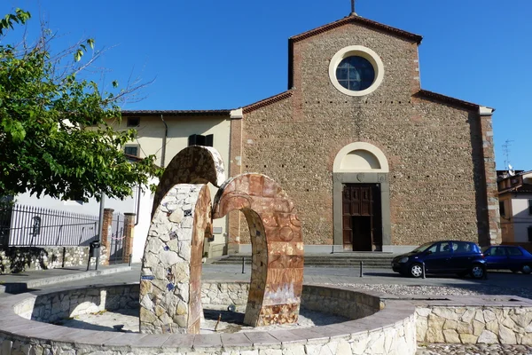
M 213 218 L 233 210 L 246 216 L 252 274 L 244 323 L 253 327 L 295 323 L 303 284 L 301 223 L 293 201 L 270 177 L 242 174 L 215 196 Z

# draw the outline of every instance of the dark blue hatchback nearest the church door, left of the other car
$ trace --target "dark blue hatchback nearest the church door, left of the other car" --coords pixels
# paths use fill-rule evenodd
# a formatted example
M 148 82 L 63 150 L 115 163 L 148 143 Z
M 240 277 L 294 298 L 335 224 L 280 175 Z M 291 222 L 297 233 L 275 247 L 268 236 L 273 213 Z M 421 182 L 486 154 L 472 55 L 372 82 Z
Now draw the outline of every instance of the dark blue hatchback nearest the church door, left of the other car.
M 431 241 L 410 253 L 395 256 L 392 269 L 403 276 L 419 278 L 426 273 L 470 274 L 481 279 L 486 272 L 486 261 L 481 248 L 472 241 Z

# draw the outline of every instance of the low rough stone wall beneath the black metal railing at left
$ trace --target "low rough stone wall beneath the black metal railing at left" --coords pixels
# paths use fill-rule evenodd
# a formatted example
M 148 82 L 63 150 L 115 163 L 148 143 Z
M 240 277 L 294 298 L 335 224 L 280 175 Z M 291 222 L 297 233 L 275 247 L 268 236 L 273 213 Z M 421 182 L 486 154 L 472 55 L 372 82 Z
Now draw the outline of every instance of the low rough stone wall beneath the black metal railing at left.
M 104 264 L 106 248 L 102 246 L 100 264 Z M 46 270 L 87 265 L 89 247 L 0 248 L 0 273 Z M 96 259 L 91 259 L 94 265 Z

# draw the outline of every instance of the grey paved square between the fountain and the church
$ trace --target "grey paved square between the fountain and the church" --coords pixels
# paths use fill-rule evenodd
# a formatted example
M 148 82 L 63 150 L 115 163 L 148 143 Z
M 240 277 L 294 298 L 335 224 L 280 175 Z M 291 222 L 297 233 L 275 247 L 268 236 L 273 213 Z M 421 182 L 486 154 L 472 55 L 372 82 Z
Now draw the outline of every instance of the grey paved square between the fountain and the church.
M 81 287 L 94 284 L 131 283 L 140 280 L 140 264 L 99 266 L 94 272 L 85 272 L 86 267 L 53 269 L 20 274 L 0 275 L 0 286 L 10 289 L 0 289 L 2 292 L 17 293 L 12 291 L 16 285 L 25 284 L 28 288 L 55 288 L 54 284 L 62 282 L 61 287 Z M 249 281 L 251 278 L 250 265 L 245 265 L 242 273 L 241 265 L 204 264 L 202 280 Z M 304 282 L 316 284 L 382 284 L 405 285 L 411 288 L 419 286 L 453 287 L 464 290 L 485 289 L 493 290 L 490 294 L 502 295 L 503 291 L 520 288 L 532 294 L 532 275 L 511 272 L 489 272 L 488 280 L 473 280 L 469 277 L 429 275 L 426 279 L 412 279 L 400 276 L 387 269 L 364 269 L 364 277 L 359 277 L 356 268 L 326 268 L 306 267 Z M 528 297 L 531 298 L 531 297 Z

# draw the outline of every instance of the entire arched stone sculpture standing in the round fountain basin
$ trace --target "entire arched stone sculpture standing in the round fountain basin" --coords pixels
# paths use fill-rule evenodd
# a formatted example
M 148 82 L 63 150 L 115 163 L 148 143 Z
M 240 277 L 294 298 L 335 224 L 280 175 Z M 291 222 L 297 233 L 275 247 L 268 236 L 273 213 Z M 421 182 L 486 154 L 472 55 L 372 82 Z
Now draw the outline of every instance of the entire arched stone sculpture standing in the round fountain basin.
M 141 333 L 200 332 L 201 256 L 212 219 L 232 210 L 246 216 L 253 272 L 245 323 L 294 323 L 303 281 L 301 224 L 293 201 L 270 177 L 243 174 L 224 180 L 211 147 L 190 146 L 168 164 L 153 199 L 140 277 Z M 221 186 L 211 209 L 207 187 Z

